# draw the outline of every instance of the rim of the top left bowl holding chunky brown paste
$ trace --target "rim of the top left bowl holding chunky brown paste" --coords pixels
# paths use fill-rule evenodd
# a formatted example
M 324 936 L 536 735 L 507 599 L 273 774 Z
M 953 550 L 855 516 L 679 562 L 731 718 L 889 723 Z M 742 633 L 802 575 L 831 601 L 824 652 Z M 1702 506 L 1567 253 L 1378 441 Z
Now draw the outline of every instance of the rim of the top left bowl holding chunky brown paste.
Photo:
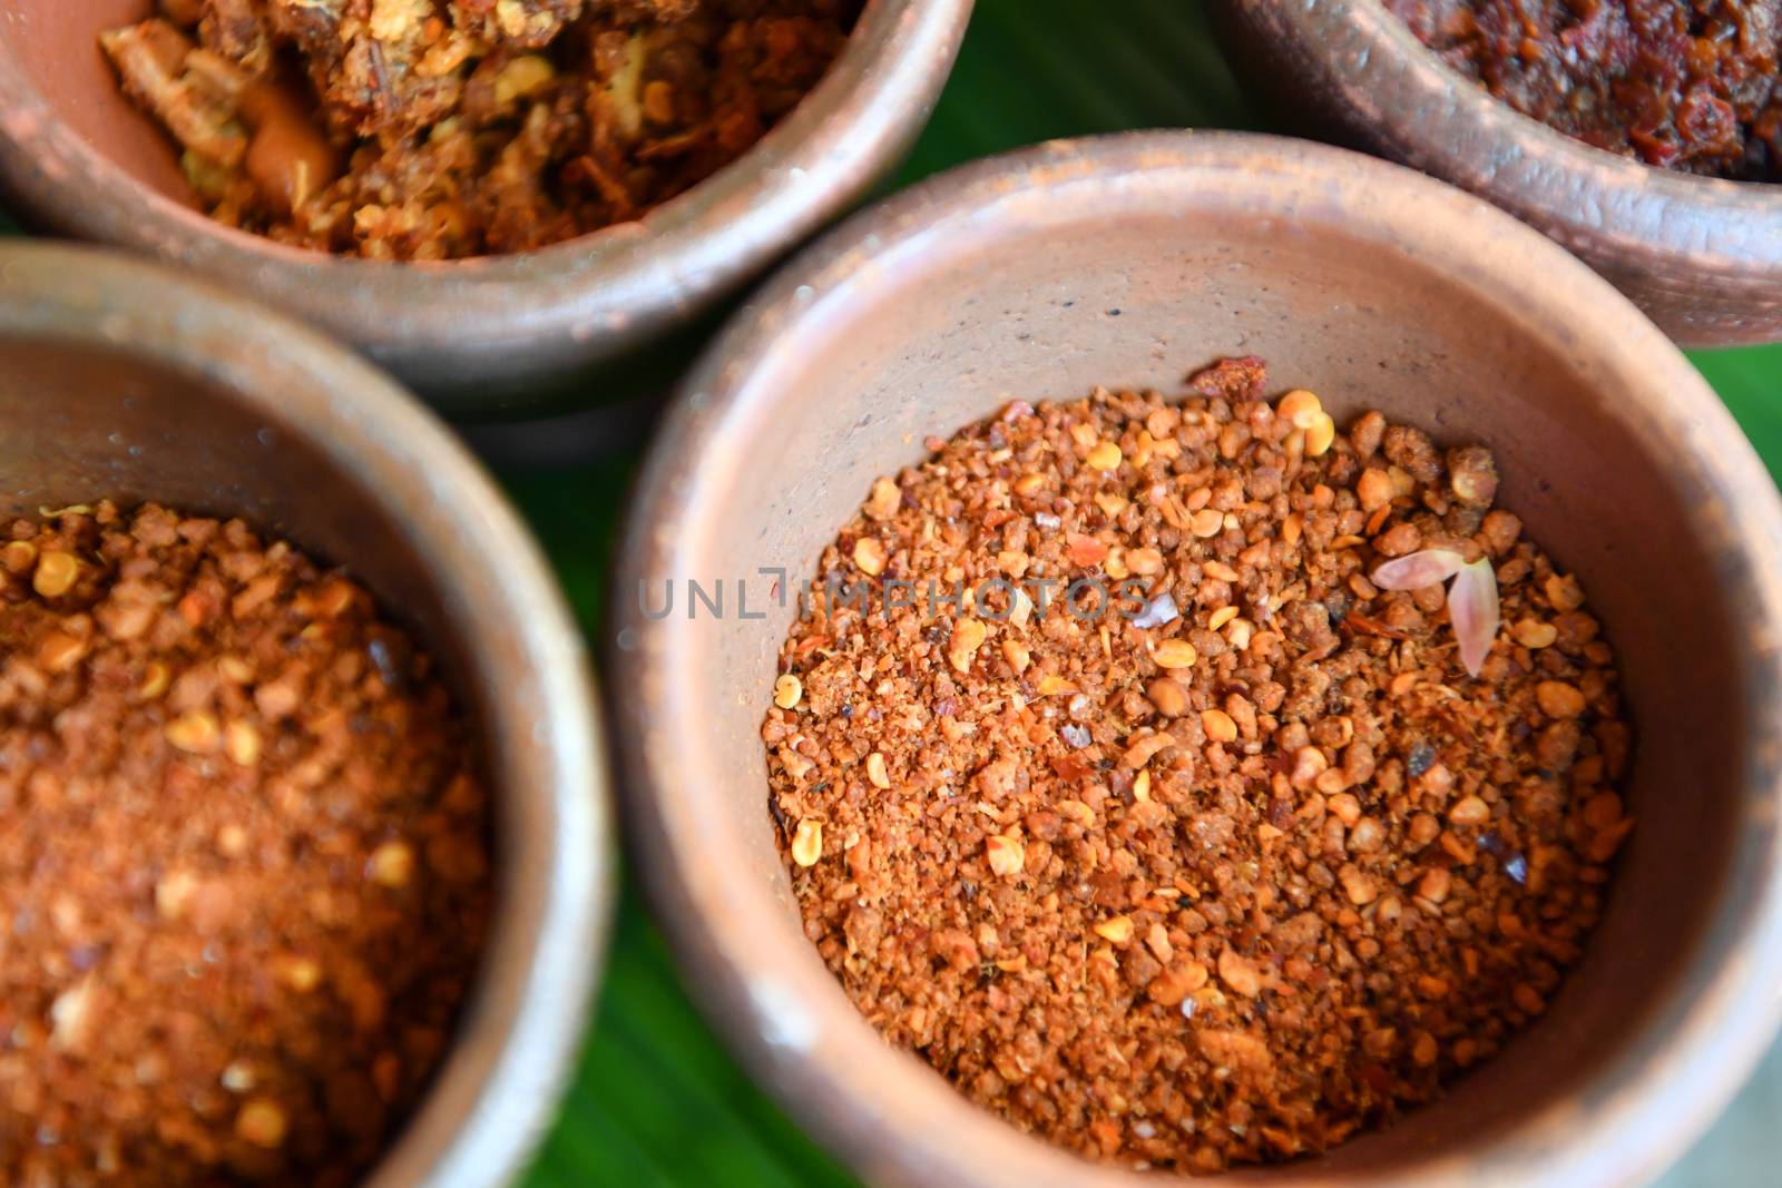
M 927 121 L 969 12 L 971 0 L 870 0 L 823 80 L 743 157 L 638 221 L 536 251 L 378 262 L 223 226 L 93 150 L 4 45 L 0 187 L 57 230 L 178 262 L 378 358 L 567 340 L 595 362 L 707 306 L 859 198 Z

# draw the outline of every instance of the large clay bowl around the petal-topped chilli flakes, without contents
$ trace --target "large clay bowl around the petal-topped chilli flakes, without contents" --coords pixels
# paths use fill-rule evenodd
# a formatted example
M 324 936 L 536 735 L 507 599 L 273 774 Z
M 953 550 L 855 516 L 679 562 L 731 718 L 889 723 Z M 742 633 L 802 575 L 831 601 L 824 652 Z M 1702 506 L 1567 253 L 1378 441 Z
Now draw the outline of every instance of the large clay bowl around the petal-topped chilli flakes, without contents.
M 1607 283 L 1484 203 L 1342 150 L 1140 134 L 948 173 L 800 256 L 695 369 L 631 511 L 611 650 L 638 871 L 690 983 L 868 1183 L 1140 1183 L 887 1047 L 802 935 L 759 739 L 795 611 L 772 570 L 809 588 L 873 477 L 928 435 L 1096 383 L 1180 392 L 1224 354 L 1267 358 L 1276 390 L 1312 387 L 1340 420 L 1381 408 L 1492 443 L 1502 506 L 1593 591 L 1639 732 L 1639 826 L 1552 1010 L 1445 1101 L 1231 1179 L 1632 1184 L 1730 1099 L 1782 1013 L 1782 504 Z M 679 602 L 650 618 L 643 584 L 659 609 L 668 579 Z M 722 618 L 690 618 L 688 579 L 723 579 Z

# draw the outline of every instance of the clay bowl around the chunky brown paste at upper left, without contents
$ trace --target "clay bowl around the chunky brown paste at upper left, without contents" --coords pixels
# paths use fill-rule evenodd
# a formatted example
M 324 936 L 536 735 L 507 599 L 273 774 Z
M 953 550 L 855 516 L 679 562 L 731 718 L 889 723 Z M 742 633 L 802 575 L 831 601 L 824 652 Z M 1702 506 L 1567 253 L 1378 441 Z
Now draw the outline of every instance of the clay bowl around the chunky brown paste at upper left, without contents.
M 609 399 L 625 360 L 857 199 L 927 121 L 971 0 L 870 0 L 829 77 L 754 150 L 636 223 L 508 256 L 381 264 L 298 251 L 194 207 L 173 142 L 118 91 L 105 28 L 153 0 L 0 5 L 0 191 L 50 230 L 249 292 L 346 338 L 462 415 L 544 379 Z

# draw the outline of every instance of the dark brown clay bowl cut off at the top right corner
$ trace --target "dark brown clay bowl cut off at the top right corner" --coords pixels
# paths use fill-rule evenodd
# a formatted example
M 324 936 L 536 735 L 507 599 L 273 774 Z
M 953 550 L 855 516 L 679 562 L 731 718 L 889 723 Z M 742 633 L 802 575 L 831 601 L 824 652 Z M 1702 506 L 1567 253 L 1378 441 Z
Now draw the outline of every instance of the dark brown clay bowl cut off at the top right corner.
M 1782 185 L 1591 148 L 1451 69 L 1377 0 L 1219 0 L 1238 73 L 1296 130 L 1415 166 L 1565 244 L 1684 346 L 1782 340 Z

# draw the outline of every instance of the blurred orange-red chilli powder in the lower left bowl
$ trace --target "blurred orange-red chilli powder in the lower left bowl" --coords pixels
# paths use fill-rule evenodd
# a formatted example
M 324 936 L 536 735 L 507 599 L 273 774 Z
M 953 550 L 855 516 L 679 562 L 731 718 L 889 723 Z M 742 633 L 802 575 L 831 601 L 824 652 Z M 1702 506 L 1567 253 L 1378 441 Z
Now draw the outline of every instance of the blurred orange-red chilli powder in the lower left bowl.
M 0 1183 L 353 1183 L 488 915 L 440 677 L 237 520 L 0 540 Z

